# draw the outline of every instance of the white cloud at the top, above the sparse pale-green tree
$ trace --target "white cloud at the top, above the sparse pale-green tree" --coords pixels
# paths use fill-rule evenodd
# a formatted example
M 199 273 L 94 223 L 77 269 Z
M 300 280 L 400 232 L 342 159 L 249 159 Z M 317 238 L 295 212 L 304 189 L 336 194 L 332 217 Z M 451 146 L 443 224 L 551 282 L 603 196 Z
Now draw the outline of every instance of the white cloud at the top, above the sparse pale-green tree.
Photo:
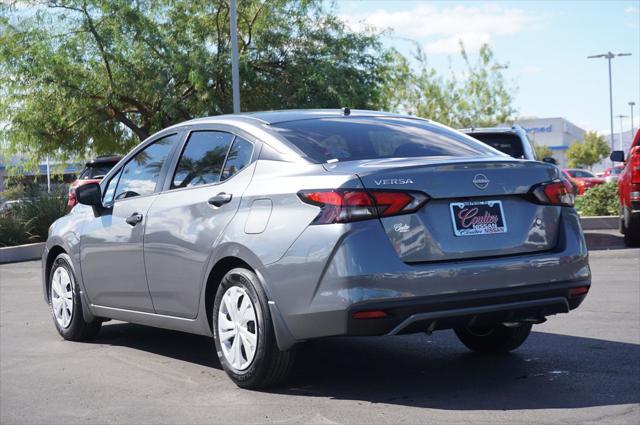
M 440 6 L 421 4 L 406 11 L 378 9 L 361 16 L 342 16 L 354 29 L 367 25 L 391 29 L 400 37 L 424 43 L 431 53 L 455 53 L 459 41 L 474 51 L 494 36 L 506 36 L 538 28 L 540 20 L 515 8 L 495 4 Z

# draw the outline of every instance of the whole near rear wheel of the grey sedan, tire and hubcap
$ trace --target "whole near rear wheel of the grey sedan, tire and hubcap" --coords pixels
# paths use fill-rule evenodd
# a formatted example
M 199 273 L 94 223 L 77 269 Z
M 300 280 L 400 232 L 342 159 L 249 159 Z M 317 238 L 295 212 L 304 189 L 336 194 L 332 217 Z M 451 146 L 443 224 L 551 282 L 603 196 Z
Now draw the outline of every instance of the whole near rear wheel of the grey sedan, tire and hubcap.
M 286 379 L 294 353 L 278 349 L 267 298 L 252 271 L 237 268 L 222 278 L 212 314 L 220 364 L 236 385 L 257 389 Z

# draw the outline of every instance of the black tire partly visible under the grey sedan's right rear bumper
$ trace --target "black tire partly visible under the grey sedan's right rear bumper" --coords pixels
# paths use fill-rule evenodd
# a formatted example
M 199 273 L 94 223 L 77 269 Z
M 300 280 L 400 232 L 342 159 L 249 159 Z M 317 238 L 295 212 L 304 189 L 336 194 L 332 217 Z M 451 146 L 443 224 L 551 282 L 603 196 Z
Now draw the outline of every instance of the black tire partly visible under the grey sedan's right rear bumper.
M 497 325 L 491 328 L 458 328 L 460 341 L 476 353 L 507 353 L 520 347 L 531 333 L 531 324 L 508 328 Z

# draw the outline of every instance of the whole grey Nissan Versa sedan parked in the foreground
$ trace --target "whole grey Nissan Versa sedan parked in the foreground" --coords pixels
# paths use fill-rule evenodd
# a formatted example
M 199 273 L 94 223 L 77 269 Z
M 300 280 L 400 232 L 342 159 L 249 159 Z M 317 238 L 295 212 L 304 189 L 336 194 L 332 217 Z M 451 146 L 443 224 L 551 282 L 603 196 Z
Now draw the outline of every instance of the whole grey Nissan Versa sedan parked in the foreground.
M 591 284 L 557 167 L 410 116 L 196 119 L 76 197 L 42 262 L 62 337 L 109 319 L 212 336 L 241 387 L 281 382 L 313 338 L 454 329 L 507 352 Z

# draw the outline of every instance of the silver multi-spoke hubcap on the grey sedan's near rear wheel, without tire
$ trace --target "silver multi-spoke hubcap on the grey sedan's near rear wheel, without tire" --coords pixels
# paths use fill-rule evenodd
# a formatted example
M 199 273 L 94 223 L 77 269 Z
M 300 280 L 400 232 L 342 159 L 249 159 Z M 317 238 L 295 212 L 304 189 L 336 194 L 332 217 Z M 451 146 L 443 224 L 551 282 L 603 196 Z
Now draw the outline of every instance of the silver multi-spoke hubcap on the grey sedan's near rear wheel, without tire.
M 218 339 L 222 354 L 236 370 L 251 365 L 258 346 L 258 320 L 249 294 L 244 288 L 228 288 L 218 311 Z

